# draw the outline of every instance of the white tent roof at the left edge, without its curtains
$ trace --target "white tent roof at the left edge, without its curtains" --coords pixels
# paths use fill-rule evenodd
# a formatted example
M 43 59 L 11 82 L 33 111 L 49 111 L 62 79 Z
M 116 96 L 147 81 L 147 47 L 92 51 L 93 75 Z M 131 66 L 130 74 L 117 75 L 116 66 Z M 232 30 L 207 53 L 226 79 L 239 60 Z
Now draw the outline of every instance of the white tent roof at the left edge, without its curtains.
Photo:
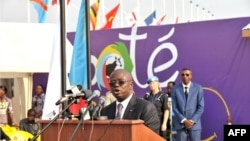
M 55 30 L 56 24 L 0 23 L 0 73 L 49 72 Z

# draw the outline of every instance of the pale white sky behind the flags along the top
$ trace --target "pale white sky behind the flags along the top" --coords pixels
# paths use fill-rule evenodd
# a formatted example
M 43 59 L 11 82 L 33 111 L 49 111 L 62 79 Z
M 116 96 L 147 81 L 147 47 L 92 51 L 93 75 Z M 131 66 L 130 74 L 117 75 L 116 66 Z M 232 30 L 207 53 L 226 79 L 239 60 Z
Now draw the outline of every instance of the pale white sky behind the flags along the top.
M 95 0 L 90 0 L 92 4 Z M 75 31 L 81 0 L 71 0 L 66 8 L 66 30 Z M 100 0 L 97 28 L 106 22 L 105 14 L 120 3 L 113 28 L 129 27 L 128 15 L 137 9 L 138 24 L 156 10 L 156 19 L 166 15 L 162 24 L 197 22 L 250 16 L 250 0 Z M 57 6 L 49 5 L 46 22 L 56 23 Z M 29 0 L 0 0 L 0 22 L 37 22 Z

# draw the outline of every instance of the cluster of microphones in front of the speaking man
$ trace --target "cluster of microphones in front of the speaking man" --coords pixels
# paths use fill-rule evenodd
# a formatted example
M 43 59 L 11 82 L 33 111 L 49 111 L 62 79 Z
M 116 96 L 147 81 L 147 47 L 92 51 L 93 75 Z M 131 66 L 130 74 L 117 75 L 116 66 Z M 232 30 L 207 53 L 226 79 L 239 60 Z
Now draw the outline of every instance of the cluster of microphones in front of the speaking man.
M 93 92 L 91 90 L 82 90 L 81 85 L 72 86 L 69 90 L 66 90 L 66 95 L 62 98 L 60 98 L 55 104 L 59 105 L 65 101 L 72 100 L 75 98 L 83 98 L 85 102 L 90 103 L 92 100 L 94 100 L 97 97 L 100 97 L 100 91 L 94 90 Z M 97 117 L 98 111 L 102 108 L 102 105 L 105 102 L 105 98 L 101 96 L 99 98 L 99 101 L 97 102 L 96 106 L 92 110 L 92 117 Z

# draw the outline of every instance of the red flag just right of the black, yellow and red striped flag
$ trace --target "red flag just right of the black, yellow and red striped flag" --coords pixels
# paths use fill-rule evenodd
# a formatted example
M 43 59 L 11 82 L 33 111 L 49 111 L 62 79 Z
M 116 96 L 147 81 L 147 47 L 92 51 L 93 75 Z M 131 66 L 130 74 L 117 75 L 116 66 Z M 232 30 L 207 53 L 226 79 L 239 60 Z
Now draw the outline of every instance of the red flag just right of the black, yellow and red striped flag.
M 120 3 L 117 4 L 111 11 L 109 11 L 107 14 L 106 14 L 106 24 L 101 28 L 101 29 L 110 29 L 112 28 L 112 23 L 113 23 L 113 20 L 116 16 L 116 13 L 119 9 L 119 6 L 120 6 Z

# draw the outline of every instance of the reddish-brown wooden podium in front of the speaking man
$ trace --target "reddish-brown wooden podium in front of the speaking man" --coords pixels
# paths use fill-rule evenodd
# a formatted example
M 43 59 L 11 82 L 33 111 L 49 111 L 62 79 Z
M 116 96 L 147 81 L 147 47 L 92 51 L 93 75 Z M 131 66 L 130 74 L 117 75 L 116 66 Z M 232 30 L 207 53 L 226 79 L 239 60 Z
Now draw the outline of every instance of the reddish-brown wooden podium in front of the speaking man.
M 49 120 L 40 120 L 41 129 Z M 143 120 L 85 120 L 73 141 L 165 141 L 146 127 Z M 69 141 L 78 120 L 57 120 L 42 134 L 41 141 Z

